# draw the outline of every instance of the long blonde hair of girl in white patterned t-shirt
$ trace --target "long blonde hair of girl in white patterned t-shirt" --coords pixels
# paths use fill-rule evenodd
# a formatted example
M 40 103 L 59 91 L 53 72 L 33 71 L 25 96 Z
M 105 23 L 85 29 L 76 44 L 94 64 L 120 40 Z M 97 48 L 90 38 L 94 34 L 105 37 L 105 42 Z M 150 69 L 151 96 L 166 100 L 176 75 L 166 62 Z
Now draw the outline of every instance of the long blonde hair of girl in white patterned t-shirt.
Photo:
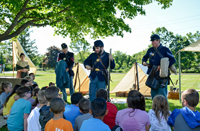
M 167 99 L 162 95 L 157 95 L 153 98 L 152 109 L 155 111 L 156 117 L 160 121 L 160 113 L 164 116 L 167 121 L 169 113 L 169 105 Z

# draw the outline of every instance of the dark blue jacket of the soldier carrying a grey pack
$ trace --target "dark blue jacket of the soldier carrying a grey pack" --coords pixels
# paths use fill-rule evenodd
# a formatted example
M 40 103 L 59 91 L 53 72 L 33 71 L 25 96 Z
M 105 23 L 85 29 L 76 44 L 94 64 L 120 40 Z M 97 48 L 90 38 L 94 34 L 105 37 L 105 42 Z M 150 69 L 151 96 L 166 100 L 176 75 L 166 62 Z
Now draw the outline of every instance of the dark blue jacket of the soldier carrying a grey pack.
M 160 46 L 157 49 L 159 50 L 159 52 L 162 54 L 163 57 L 169 58 L 169 67 L 171 67 L 176 62 L 176 60 L 175 60 L 172 52 L 169 50 L 169 48 L 160 44 Z M 149 64 L 152 65 L 152 66 L 153 65 L 156 65 L 156 66 L 160 65 L 161 57 L 155 52 L 153 47 L 149 48 L 147 53 L 143 56 L 142 63 L 147 62 L 147 60 L 149 59 L 149 57 L 151 55 L 152 55 L 152 57 L 149 60 Z M 150 73 L 151 69 L 152 69 L 152 67 L 150 66 L 147 70 L 147 74 Z

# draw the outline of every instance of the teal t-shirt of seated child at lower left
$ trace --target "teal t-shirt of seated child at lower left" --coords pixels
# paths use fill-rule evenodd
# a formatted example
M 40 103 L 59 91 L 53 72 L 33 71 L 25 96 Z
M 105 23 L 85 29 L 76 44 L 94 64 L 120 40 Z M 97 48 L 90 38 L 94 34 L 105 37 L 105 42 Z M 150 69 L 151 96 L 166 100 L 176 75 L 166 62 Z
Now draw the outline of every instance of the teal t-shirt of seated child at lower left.
M 29 114 L 31 111 L 31 102 L 23 98 L 14 102 L 11 107 L 10 116 L 7 120 L 8 129 L 10 131 L 24 130 L 24 113 Z

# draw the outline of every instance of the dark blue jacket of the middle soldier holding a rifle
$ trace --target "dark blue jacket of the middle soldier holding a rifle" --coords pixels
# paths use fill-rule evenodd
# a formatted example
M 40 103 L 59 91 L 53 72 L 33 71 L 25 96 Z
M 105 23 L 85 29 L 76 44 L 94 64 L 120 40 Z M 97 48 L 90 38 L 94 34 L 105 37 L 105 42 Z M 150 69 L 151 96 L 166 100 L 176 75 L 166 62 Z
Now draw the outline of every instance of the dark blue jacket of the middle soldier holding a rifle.
M 104 64 L 104 66 L 106 67 L 106 69 L 109 66 L 109 53 L 107 52 L 103 52 L 100 56 L 99 56 Z M 103 65 L 101 64 L 101 62 L 97 62 L 96 60 L 98 59 L 98 56 L 96 53 L 92 53 L 85 61 L 84 61 L 84 66 L 89 65 L 93 68 L 98 68 L 100 70 L 104 70 L 105 68 L 103 67 Z M 115 61 L 111 61 L 111 69 L 115 68 Z M 100 81 L 105 81 L 104 76 L 102 74 L 101 71 L 91 71 L 90 72 L 90 80 L 94 80 L 95 77 L 98 76 L 98 79 Z

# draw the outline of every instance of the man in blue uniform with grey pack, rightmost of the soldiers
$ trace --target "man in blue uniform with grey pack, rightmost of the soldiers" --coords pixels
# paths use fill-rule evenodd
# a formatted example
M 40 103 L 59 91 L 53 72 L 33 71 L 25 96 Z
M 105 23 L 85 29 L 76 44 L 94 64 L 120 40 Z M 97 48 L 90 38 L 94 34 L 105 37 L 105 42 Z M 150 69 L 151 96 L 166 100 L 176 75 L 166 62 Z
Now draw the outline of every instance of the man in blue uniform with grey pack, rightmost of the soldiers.
M 157 71 L 160 71 L 161 56 L 155 51 L 154 48 L 156 48 L 162 54 L 163 57 L 169 58 L 169 67 L 171 67 L 176 62 L 176 60 L 175 60 L 173 54 L 171 53 L 171 51 L 169 50 L 169 48 L 163 46 L 160 43 L 160 37 L 157 34 L 152 35 L 150 38 L 151 38 L 153 47 L 148 49 L 147 53 L 144 55 L 144 57 L 142 59 L 142 64 L 144 66 L 148 66 L 147 74 L 149 74 L 151 72 L 153 65 L 158 66 Z M 146 63 L 148 59 L 149 59 L 149 64 Z M 166 85 L 165 85 L 165 87 L 161 87 L 160 85 L 164 79 L 167 79 Z M 158 89 L 156 89 L 156 90 L 151 89 L 152 99 L 158 94 L 161 94 L 167 98 L 168 79 L 169 78 L 161 78 L 159 80 Z

